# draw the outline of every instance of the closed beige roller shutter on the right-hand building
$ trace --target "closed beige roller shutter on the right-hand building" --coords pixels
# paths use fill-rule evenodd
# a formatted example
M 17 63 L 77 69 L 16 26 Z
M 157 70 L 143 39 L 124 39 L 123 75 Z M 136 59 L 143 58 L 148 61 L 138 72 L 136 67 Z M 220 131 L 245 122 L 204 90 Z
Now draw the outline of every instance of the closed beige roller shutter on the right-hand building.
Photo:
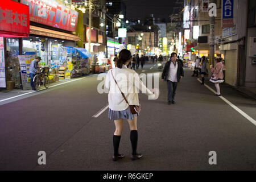
M 225 51 L 225 82 L 229 85 L 237 85 L 237 50 Z

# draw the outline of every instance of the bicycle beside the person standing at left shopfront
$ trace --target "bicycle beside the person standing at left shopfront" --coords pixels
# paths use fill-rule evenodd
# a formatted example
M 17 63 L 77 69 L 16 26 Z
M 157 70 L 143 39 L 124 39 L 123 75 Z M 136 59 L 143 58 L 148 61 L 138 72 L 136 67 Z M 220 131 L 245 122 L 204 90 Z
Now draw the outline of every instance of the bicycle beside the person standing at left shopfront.
M 44 85 L 44 87 L 48 89 L 49 87 L 48 73 L 49 73 L 48 67 L 43 67 L 41 68 L 40 72 L 36 73 L 36 75 L 33 78 L 33 82 L 36 90 L 39 90 L 41 85 Z

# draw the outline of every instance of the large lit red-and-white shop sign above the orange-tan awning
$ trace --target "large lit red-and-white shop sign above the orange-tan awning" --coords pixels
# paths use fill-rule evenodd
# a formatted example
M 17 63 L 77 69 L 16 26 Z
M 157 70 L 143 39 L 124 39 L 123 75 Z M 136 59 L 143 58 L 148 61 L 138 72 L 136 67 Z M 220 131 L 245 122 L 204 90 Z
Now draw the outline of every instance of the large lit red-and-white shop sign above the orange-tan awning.
M 54 0 L 21 0 L 30 7 L 30 20 L 67 31 L 76 31 L 78 12 Z

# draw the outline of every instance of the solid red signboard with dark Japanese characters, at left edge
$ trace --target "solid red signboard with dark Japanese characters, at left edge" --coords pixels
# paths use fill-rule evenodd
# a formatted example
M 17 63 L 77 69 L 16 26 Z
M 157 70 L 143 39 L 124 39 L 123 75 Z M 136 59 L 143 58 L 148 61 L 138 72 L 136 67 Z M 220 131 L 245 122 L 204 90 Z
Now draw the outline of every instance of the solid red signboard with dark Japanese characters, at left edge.
M 5 0 L 0 2 L 0 36 L 28 37 L 30 15 L 28 6 Z

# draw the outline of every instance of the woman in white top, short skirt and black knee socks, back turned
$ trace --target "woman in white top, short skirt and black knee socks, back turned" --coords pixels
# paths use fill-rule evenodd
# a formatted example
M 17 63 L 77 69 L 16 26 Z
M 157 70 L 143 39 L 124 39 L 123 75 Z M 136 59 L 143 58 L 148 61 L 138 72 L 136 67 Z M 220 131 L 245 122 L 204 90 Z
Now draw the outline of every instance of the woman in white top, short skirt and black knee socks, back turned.
M 156 89 L 153 89 L 153 92 L 151 92 L 151 90 L 146 88 L 143 82 L 139 79 L 138 73 L 136 73 L 132 69 L 127 68 L 126 65 L 130 63 L 131 58 L 131 52 L 127 49 L 122 49 L 122 51 L 119 53 L 119 59 L 117 60 L 117 68 L 111 69 L 107 73 L 105 80 L 105 87 L 109 89 L 108 117 L 111 120 L 114 120 L 115 123 L 115 132 L 113 136 L 114 155 L 112 156 L 112 159 L 114 161 L 124 158 L 124 155 L 119 154 L 118 152 L 121 134 L 123 130 L 123 119 L 127 119 L 131 130 L 130 140 L 133 150 L 131 159 L 135 160 L 142 158 L 142 154 L 137 153 L 138 114 L 132 114 L 129 105 L 139 105 L 139 90 L 142 90 L 143 93 L 146 93 L 150 100 L 155 100 L 158 98 L 157 92 L 156 94 L 154 94 Z M 125 95 L 129 104 L 126 103 L 114 79 L 117 81 L 119 88 Z

